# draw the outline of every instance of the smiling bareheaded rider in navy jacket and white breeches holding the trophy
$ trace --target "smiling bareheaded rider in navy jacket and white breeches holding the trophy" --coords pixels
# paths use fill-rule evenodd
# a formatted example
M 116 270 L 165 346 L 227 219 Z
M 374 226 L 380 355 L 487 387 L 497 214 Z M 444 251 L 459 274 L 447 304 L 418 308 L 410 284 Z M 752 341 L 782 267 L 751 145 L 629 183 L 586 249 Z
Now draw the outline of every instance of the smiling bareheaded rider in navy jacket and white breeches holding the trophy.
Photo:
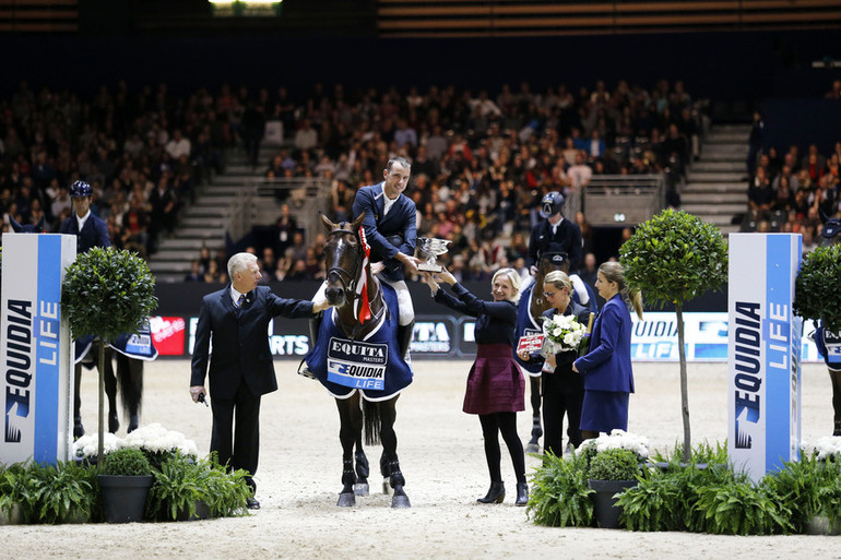
M 396 291 L 400 307 L 398 342 L 405 358 L 408 357 L 408 345 L 412 342 L 415 309 L 403 276 L 403 266 L 407 266 L 414 274 L 418 273 L 418 259 L 414 257 L 417 240 L 415 203 L 404 194 L 411 172 L 412 164 L 405 157 L 389 159 L 382 171 L 383 180 L 377 184 L 360 187 L 356 192 L 351 216 L 353 221 L 365 213 L 363 229 L 371 248 L 370 261 L 372 264 L 381 263 L 375 264 L 372 270 L 378 271 L 378 277 Z M 324 286 L 312 300 L 324 300 Z M 319 324 L 318 320 L 310 324 L 313 346 Z M 306 370 L 301 373 L 308 374 Z

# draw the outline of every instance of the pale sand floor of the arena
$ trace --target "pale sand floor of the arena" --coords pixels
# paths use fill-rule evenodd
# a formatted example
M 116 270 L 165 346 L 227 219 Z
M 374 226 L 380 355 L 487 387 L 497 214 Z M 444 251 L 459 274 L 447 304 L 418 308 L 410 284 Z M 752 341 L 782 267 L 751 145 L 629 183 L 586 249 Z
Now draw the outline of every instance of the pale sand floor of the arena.
M 191 523 L 0 526 L 0 558 L 841 558 L 837 537 L 724 537 L 686 533 L 631 533 L 535 526 L 513 505 L 514 478 L 504 448 L 509 496 L 479 505 L 487 489 L 482 432 L 461 412 L 469 361 L 415 361 L 415 381 L 401 396 L 396 431 L 410 510 L 391 510 L 371 495 L 353 509 L 335 507 L 341 488 L 339 415 L 315 381 L 276 361 L 280 391 L 262 401 L 258 498 L 252 515 Z M 637 393 L 629 430 L 667 450 L 683 439 L 677 364 L 635 365 Z M 143 424 L 161 422 L 196 440 L 206 453 L 211 413 L 188 396 L 189 362 L 146 367 Z M 826 369 L 803 371 L 803 438 L 832 431 Z M 692 441 L 723 442 L 726 366 L 689 366 Z M 96 429 L 96 376 L 83 381 L 83 419 Z M 525 440 L 530 415 L 519 415 Z M 119 434 L 125 436 L 125 427 Z M 376 465 L 379 448 L 369 451 Z M 526 457 L 531 470 L 537 460 Z M 379 477 L 371 477 L 372 489 Z

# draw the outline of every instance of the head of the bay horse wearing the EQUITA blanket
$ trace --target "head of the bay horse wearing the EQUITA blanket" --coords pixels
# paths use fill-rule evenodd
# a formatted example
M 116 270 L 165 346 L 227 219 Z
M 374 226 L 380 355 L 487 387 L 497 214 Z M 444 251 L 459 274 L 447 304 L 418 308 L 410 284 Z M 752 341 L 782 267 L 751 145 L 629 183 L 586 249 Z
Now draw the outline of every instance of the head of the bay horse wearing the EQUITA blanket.
M 359 239 L 359 227 L 365 213 L 353 223 L 341 222 L 333 224 L 323 214 L 321 223 L 328 229 L 324 243 L 324 267 L 327 269 L 327 287 L 324 296 L 334 307 L 351 303 L 356 295 L 356 283 L 363 271 L 363 243 Z

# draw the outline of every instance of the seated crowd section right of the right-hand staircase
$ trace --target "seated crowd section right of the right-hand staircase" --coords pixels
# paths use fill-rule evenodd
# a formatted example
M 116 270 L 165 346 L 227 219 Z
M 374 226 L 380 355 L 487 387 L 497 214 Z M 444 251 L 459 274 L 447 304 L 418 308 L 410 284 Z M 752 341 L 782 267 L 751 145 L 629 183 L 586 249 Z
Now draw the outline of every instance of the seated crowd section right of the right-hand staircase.
M 762 126 L 756 114 L 751 142 Z M 748 162 L 748 207 L 742 230 L 801 234 L 803 250 L 809 251 L 818 245 L 824 221 L 841 215 L 841 141 L 829 154 L 821 154 L 815 144 L 806 153 L 796 144 L 784 153 L 773 146 L 755 153 Z

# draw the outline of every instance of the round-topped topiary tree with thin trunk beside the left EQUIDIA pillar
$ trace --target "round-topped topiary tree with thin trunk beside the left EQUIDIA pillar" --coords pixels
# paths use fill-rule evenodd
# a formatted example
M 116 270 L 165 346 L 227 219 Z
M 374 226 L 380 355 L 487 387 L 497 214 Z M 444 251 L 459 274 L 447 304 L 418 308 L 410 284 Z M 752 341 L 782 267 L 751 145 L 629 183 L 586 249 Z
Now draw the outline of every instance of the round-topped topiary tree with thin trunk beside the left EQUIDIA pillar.
M 157 307 L 155 277 L 139 255 L 95 247 L 68 266 L 61 286 L 61 307 L 73 337 L 92 335 L 105 348 L 122 333 L 135 333 Z M 105 434 L 105 353 L 99 353 L 99 449 Z

